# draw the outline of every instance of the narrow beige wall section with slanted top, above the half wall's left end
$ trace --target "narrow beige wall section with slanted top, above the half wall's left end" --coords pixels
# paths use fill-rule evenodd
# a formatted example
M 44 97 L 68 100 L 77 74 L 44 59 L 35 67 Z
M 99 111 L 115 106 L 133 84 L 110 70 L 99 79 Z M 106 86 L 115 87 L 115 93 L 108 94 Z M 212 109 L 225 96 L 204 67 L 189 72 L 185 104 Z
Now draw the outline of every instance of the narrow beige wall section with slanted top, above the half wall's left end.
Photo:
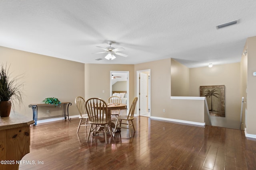
M 189 96 L 189 68 L 171 59 L 172 96 Z

